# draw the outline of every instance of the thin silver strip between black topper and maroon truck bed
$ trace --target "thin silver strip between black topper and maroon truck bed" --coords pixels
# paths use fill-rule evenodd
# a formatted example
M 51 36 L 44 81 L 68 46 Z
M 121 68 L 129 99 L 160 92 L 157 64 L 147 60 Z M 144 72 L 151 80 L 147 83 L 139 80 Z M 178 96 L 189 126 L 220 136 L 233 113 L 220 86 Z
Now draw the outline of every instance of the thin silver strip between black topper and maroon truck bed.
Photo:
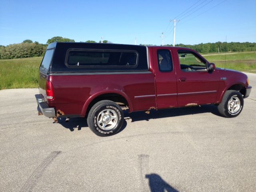
M 130 71 L 130 72 L 58 72 L 50 73 L 51 76 L 66 76 L 66 75 L 119 75 L 119 74 L 150 74 L 150 71 Z

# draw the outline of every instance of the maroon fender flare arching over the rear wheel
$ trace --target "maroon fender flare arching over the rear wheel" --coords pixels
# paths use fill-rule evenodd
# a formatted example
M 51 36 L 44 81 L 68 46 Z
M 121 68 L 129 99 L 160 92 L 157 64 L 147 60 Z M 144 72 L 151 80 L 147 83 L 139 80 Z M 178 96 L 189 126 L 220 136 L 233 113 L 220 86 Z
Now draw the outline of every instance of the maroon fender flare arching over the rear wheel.
M 82 112 L 81 112 L 81 117 L 84 117 L 86 115 L 86 111 L 88 106 L 90 105 L 90 103 L 98 96 L 103 95 L 103 94 L 109 94 L 109 93 L 114 93 L 114 94 L 119 94 L 122 97 L 124 97 L 126 99 L 126 101 L 129 104 L 129 111 L 132 112 L 133 111 L 133 107 L 132 107 L 132 102 L 130 100 L 130 98 L 127 96 L 126 93 L 118 91 L 118 90 L 104 90 L 104 91 L 100 91 L 100 92 L 96 92 L 95 94 L 93 94 L 92 96 L 90 96 L 86 102 L 84 103 L 84 106 L 82 108 Z

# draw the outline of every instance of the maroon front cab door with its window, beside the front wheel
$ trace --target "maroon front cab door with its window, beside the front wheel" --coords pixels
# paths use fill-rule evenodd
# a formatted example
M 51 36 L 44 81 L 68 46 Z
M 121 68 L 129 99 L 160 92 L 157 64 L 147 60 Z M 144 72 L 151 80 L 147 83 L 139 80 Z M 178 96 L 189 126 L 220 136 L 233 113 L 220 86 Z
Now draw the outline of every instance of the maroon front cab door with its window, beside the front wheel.
M 176 67 L 178 105 L 192 106 L 216 102 L 218 71 L 209 73 L 207 61 L 192 50 L 178 50 Z

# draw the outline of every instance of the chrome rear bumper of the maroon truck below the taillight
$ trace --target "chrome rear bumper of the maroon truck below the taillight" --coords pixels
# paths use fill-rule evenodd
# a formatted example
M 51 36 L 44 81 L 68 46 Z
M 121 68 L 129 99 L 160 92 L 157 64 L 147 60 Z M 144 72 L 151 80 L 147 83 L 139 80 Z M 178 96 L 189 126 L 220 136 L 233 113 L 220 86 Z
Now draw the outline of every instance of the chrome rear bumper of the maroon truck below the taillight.
M 37 110 L 39 113 L 43 114 L 48 118 L 52 118 L 56 116 L 55 109 L 53 107 L 49 107 L 48 103 L 44 101 L 44 96 L 42 94 L 36 94 L 36 102 L 38 104 Z

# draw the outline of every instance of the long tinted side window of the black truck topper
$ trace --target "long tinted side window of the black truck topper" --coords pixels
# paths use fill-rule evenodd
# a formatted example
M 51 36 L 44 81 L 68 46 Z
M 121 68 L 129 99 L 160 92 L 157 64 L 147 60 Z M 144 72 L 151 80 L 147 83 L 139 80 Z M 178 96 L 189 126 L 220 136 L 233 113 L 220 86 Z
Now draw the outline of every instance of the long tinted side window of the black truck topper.
M 70 50 L 66 58 L 68 67 L 136 67 L 136 51 Z

